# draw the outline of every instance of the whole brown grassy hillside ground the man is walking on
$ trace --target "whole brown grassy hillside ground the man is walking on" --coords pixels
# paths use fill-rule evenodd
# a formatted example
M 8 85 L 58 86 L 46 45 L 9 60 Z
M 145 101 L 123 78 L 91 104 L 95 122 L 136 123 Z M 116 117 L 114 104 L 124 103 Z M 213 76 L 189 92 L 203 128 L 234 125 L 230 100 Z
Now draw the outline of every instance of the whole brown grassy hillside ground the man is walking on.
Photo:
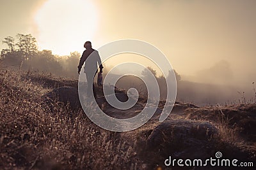
M 81 108 L 58 99 L 45 103 L 42 96 L 60 87 L 77 88 L 77 81 L 1 71 L 0 169 L 180 169 L 164 166 L 164 160 L 170 155 L 205 159 L 219 151 L 225 158 L 255 163 L 256 104 L 200 108 L 177 102 L 162 124 L 156 113 L 139 129 L 109 132 L 93 124 Z M 141 97 L 140 106 L 146 101 Z M 163 105 L 161 101 L 159 111 Z M 136 109 L 131 115 L 141 108 Z M 104 110 L 123 114 L 108 104 Z

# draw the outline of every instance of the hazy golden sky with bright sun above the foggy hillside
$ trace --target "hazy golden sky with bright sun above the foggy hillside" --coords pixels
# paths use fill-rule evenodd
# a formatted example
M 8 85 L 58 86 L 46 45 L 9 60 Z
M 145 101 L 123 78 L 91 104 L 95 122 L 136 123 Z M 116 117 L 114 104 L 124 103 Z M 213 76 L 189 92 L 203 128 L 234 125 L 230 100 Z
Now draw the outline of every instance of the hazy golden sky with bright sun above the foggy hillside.
M 255 9 L 254 0 L 1 0 L 0 38 L 31 33 L 41 50 L 60 55 L 82 53 L 88 39 L 95 48 L 140 39 L 157 46 L 184 78 L 251 86 Z

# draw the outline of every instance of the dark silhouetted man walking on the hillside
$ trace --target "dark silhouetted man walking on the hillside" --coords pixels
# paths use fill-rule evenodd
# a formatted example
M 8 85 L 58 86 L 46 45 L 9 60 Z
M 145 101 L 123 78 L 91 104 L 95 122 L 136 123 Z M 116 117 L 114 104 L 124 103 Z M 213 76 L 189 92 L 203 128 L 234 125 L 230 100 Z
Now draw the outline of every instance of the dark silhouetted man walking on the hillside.
M 80 74 L 81 68 L 84 64 L 84 73 L 86 74 L 86 80 L 87 80 L 87 95 L 88 97 L 97 97 L 97 93 L 95 91 L 95 87 L 93 84 L 93 79 L 95 77 L 95 74 L 98 72 L 98 66 L 100 67 L 100 73 L 102 73 L 102 64 L 100 60 L 100 55 L 97 50 L 94 50 L 92 48 L 92 43 L 90 41 L 86 41 L 84 43 L 84 50 L 83 55 L 80 59 L 79 66 L 78 66 L 78 74 Z M 89 57 L 90 55 L 90 57 Z M 89 58 L 88 58 L 89 57 Z M 93 94 L 92 94 L 93 89 Z

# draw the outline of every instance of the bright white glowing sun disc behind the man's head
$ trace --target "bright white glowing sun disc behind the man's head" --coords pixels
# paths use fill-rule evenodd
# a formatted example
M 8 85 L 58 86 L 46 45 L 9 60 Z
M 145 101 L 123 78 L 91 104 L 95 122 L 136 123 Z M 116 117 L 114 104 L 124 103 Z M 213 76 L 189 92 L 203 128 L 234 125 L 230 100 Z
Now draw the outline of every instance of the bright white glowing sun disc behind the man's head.
M 35 15 L 38 46 L 58 55 L 81 52 L 84 41 L 93 41 L 97 21 L 92 1 L 49 0 Z

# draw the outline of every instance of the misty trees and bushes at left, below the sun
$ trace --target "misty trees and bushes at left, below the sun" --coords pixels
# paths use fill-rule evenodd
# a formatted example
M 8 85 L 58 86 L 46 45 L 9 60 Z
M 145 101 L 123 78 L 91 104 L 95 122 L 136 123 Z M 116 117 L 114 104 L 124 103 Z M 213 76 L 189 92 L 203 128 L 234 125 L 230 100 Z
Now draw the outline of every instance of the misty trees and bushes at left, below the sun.
M 51 50 L 38 50 L 36 38 L 31 34 L 8 36 L 2 43 L 6 48 L 1 50 L 0 60 L 6 67 L 20 68 L 26 71 L 45 71 L 56 76 L 77 77 L 77 63 L 81 54 L 53 55 Z

